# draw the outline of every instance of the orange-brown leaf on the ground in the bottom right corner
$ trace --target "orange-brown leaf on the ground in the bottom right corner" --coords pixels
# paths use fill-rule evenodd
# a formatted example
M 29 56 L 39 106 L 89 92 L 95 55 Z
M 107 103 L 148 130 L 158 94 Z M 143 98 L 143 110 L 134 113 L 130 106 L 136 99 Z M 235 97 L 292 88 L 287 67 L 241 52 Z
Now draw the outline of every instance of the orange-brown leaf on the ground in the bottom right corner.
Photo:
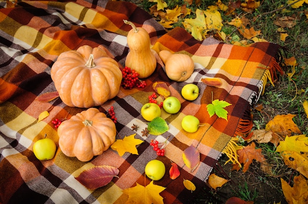
M 294 177 L 293 187 L 280 178 L 283 195 L 288 204 L 304 204 L 308 199 L 308 181 L 302 175 Z

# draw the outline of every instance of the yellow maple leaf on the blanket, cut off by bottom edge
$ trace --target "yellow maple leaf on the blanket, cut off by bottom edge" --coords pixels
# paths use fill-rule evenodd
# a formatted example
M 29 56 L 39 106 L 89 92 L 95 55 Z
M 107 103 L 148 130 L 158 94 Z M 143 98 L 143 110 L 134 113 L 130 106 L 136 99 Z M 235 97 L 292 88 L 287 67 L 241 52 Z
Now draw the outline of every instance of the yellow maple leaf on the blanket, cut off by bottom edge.
M 152 180 L 147 186 L 136 183 L 136 186 L 124 189 L 123 193 L 128 195 L 126 203 L 129 204 L 163 204 L 163 198 L 159 193 L 165 189 L 153 184 Z

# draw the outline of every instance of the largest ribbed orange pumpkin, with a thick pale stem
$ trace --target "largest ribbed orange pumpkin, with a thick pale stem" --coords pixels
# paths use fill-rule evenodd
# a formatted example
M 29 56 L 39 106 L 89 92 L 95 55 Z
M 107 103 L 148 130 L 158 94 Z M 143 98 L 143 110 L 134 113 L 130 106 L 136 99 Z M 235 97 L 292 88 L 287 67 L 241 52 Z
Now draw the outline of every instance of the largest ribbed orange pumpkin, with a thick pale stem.
M 105 51 L 84 45 L 62 52 L 51 68 L 51 78 L 62 102 L 89 108 L 117 96 L 122 72 Z

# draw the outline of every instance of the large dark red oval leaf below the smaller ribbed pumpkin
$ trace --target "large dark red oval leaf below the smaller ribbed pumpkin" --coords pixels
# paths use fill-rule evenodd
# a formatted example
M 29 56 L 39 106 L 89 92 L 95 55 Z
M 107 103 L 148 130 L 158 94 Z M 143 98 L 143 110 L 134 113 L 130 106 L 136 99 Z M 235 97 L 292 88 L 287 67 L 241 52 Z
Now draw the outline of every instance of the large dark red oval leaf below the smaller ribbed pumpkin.
M 90 190 L 107 185 L 112 178 L 117 177 L 119 169 L 116 167 L 102 165 L 87 169 L 76 177 L 81 184 Z

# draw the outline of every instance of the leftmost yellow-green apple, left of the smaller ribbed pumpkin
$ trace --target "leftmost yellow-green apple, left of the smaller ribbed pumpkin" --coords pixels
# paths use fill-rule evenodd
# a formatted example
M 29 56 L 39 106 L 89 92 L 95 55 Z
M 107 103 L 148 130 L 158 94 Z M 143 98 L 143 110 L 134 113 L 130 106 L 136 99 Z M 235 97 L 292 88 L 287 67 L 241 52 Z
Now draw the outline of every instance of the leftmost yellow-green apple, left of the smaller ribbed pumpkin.
M 37 140 L 33 145 L 33 153 L 39 160 L 54 158 L 56 149 L 55 142 L 50 138 Z

